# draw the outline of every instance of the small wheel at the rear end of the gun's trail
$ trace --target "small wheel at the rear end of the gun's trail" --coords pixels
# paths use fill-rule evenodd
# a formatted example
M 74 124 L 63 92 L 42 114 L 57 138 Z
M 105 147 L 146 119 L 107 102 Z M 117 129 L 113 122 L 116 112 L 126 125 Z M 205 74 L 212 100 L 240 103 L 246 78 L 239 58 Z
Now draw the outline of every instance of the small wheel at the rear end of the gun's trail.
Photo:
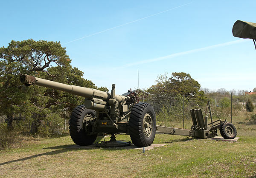
M 236 138 L 236 127 L 230 122 L 224 122 L 220 126 L 221 136 L 225 139 Z

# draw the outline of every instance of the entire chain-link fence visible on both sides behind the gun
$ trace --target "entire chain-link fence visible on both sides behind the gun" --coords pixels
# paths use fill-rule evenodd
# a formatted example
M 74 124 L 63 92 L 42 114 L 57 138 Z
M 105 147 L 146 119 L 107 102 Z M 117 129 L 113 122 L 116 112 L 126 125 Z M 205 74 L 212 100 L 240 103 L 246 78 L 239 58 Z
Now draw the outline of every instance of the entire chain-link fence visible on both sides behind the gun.
M 207 99 L 189 99 L 183 96 L 166 96 L 140 99 L 140 102 L 150 103 L 155 110 L 157 124 L 190 129 L 192 119 L 190 109 L 202 109 L 203 115 L 208 116 L 210 122 Z M 256 132 L 256 96 L 210 96 L 212 120 L 221 119 L 232 122 L 238 130 L 255 130 Z M 31 131 L 32 124 L 39 124 L 42 135 L 49 133 L 61 134 L 69 130 L 70 112 L 67 110 L 50 109 L 43 122 L 38 123 L 38 114 L 31 117 L 18 115 L 14 117 L 12 125 L 25 132 Z M 0 123 L 7 122 L 6 116 L 0 116 Z M 40 130 L 39 130 L 40 131 Z

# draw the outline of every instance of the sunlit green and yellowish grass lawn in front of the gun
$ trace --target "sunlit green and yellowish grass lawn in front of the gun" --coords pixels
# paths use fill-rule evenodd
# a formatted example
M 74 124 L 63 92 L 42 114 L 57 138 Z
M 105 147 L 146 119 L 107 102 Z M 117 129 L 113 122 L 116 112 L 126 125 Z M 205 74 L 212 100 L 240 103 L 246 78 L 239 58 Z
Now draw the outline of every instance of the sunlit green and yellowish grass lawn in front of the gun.
M 237 142 L 157 135 L 153 150 L 70 148 L 70 136 L 31 140 L 0 151 L 1 177 L 252 177 L 256 131 Z M 109 139 L 109 138 L 107 138 Z M 129 136 L 119 135 L 119 140 Z

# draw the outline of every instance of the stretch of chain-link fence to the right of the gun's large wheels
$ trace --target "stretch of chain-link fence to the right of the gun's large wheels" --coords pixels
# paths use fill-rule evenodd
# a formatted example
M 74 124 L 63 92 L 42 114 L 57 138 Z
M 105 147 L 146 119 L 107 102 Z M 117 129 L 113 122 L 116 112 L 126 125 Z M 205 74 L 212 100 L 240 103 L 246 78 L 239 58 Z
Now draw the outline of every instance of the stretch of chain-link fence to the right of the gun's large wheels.
M 143 100 L 154 107 L 158 125 L 190 129 L 190 109 L 202 109 L 203 115 L 208 116 L 208 123 L 210 122 L 207 99 L 168 96 Z M 227 119 L 228 122 L 235 124 L 238 130 L 256 131 L 255 96 L 211 96 L 209 102 L 213 121 Z

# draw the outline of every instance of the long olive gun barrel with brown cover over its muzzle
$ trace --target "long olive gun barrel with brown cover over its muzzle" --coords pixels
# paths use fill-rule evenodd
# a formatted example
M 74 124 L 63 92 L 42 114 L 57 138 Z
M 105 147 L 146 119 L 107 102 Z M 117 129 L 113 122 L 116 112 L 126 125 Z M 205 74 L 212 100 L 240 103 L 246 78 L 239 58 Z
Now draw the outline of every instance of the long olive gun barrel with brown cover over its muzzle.
M 39 85 L 47 88 L 52 88 L 56 90 L 66 91 L 74 95 L 82 96 L 84 98 L 91 98 L 92 96 L 99 96 L 103 101 L 107 101 L 110 98 L 110 94 L 105 91 L 96 90 L 93 88 L 79 87 L 75 85 L 67 85 L 59 82 L 53 82 L 46 79 L 41 79 L 34 76 L 29 76 L 22 74 L 20 76 L 20 82 L 25 83 L 26 86 L 29 85 Z

